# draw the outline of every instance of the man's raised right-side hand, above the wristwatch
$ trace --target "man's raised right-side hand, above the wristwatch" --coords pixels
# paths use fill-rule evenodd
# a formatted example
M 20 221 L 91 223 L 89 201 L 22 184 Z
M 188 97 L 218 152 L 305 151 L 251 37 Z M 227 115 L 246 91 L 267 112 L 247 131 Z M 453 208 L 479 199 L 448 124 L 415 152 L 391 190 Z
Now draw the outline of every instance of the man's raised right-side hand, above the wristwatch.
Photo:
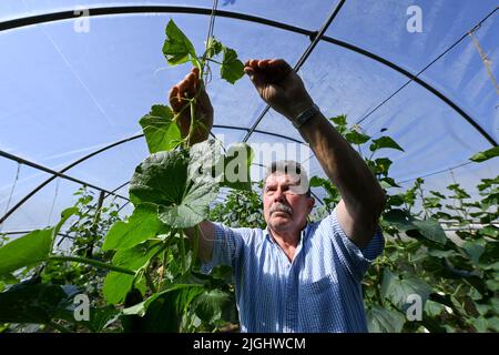
M 248 60 L 244 72 L 262 99 L 289 120 L 314 103 L 302 79 L 283 59 Z

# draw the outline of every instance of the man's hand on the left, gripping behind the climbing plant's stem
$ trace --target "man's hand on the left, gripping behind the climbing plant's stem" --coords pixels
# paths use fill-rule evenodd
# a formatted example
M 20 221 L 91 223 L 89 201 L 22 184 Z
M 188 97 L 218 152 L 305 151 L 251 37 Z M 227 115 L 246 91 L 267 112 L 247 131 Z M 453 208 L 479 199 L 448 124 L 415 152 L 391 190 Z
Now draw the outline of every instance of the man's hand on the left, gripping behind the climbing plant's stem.
M 170 90 L 170 104 L 173 112 L 181 112 L 176 124 L 181 131 L 182 138 L 187 136 L 191 129 L 191 109 L 189 99 L 196 97 L 195 118 L 198 125 L 194 128 L 190 145 L 205 141 L 213 128 L 213 106 L 210 97 L 204 90 L 203 82 L 200 79 L 200 69 L 193 70 L 185 78 Z

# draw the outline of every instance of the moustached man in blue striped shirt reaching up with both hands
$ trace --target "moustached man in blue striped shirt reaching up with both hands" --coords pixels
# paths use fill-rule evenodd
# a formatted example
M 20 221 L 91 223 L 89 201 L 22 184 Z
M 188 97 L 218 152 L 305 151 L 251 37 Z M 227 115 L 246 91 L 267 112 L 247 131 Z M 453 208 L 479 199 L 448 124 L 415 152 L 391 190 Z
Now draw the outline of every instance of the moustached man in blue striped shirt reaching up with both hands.
M 385 194 L 284 60 L 249 60 L 244 71 L 262 99 L 297 126 L 342 200 L 329 216 L 307 224 L 314 199 L 297 189 L 306 175 L 296 164 L 273 164 L 263 191 L 267 229 L 200 223 L 203 267 L 233 266 L 242 332 L 367 332 L 360 281 L 383 251 Z M 173 110 L 180 112 L 182 98 L 200 84 L 194 69 L 172 88 Z M 211 129 L 213 108 L 202 88 L 196 110 Z M 177 122 L 185 136 L 189 114 Z M 197 128 L 194 141 L 205 139 L 206 130 Z

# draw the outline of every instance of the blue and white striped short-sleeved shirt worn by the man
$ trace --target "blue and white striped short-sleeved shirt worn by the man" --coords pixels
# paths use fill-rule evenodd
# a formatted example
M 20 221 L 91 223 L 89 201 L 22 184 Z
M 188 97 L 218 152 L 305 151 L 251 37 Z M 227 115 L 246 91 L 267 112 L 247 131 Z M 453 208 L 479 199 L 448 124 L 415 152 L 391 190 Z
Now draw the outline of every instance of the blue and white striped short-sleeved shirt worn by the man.
M 358 248 L 336 209 L 302 231 L 293 262 L 268 230 L 215 223 L 213 257 L 202 270 L 233 267 L 242 332 L 367 332 L 360 281 L 384 245 L 378 227 Z

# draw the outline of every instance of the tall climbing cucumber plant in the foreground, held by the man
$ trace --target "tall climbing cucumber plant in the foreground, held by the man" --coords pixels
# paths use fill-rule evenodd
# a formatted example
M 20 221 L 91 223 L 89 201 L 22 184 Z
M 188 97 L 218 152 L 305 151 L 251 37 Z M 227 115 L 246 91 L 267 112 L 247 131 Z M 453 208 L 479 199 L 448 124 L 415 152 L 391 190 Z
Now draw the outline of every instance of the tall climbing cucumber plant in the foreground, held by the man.
M 194 45 L 172 20 L 165 32 L 163 53 L 167 64 L 191 62 L 203 78 L 210 61 L 220 64 L 222 79 L 232 84 L 243 77 L 244 65 L 236 52 L 216 39 L 210 38 L 205 52 L 197 55 Z M 78 212 L 73 207 L 62 213 L 55 227 L 34 231 L 1 247 L 0 275 L 10 277 L 16 270 L 43 262 L 75 262 L 108 270 L 103 296 L 108 304 L 122 310 L 125 332 L 215 331 L 227 322 L 237 322 L 234 295 L 230 292 L 230 271 L 218 267 L 211 275 L 201 273 L 196 255 L 197 224 L 207 216 L 210 203 L 221 186 L 251 190 L 252 152 L 246 144 L 235 144 L 225 151 L 216 139 L 192 145 L 192 134 L 202 124 L 196 118 L 197 94 L 185 100 L 191 129 L 184 138 L 176 124 L 182 112 L 174 114 L 167 105 L 153 105 L 140 120 L 151 155 L 136 166 L 131 179 L 133 213 L 126 221 L 115 222 L 105 236 L 102 251 L 113 253 L 111 262 L 52 252 L 54 236 Z M 243 179 L 228 176 L 225 173 L 228 166 L 236 171 L 235 178 Z M 194 229 L 192 240 L 186 239 L 185 229 Z M 0 308 L 2 304 L 8 307 L 16 303 L 16 292 L 30 294 L 31 288 L 26 290 L 29 286 L 12 287 L 1 294 Z M 75 292 L 67 292 L 62 286 L 52 288 L 47 292 L 59 295 L 53 296 L 58 304 L 67 304 Z M 40 294 L 41 291 L 33 292 Z M 40 323 L 61 329 L 63 326 L 53 318 L 71 321 L 62 317 L 57 306 L 47 308 L 53 312 L 40 316 Z M 19 321 L 14 318 L 0 315 L 0 322 Z M 34 321 L 27 318 L 27 322 Z

